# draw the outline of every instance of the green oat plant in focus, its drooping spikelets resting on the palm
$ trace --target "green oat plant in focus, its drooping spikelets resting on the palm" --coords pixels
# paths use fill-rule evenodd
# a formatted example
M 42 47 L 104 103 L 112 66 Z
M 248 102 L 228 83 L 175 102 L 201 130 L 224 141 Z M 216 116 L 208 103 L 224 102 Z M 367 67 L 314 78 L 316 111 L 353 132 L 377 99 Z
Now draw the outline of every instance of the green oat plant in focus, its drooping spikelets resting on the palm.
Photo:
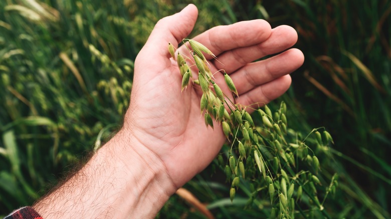
M 168 50 L 182 75 L 182 91 L 190 82 L 201 87 L 200 108 L 205 124 L 214 128 L 215 119 L 227 137 L 229 150 L 221 151 L 217 163 L 231 184 L 231 201 L 242 182 L 247 181 L 251 191 L 248 205 L 260 197 L 268 197 L 271 218 L 294 218 L 297 213 L 313 217 L 314 211 L 328 217 L 323 203 L 329 193 L 335 193 L 337 176 L 328 183 L 321 180 L 320 162 L 314 149 L 327 151 L 327 145 L 333 141 L 331 135 L 324 128 L 317 128 L 303 138 L 289 129 L 285 102 L 274 112 L 267 105 L 256 109 L 235 103 L 214 81 L 215 73 L 224 73 L 227 87 L 234 98 L 238 96 L 233 80 L 224 69 L 211 72 L 204 53 L 217 59 L 212 51 L 192 39 L 183 39 L 183 43 L 191 57 L 176 52 L 171 43 Z M 198 79 L 194 80 L 193 65 L 198 69 Z M 250 108 L 258 113 L 258 117 L 253 115 L 255 119 L 247 111 Z

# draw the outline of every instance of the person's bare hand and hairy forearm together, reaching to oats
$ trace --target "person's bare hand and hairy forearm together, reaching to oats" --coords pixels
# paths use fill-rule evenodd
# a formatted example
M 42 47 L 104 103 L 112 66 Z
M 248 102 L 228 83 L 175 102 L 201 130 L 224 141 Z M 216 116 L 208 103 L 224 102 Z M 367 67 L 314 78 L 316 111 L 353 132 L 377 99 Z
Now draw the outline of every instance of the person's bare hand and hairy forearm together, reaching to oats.
M 176 46 L 190 33 L 197 13 L 188 5 L 156 24 L 135 61 L 123 128 L 79 171 L 33 205 L 42 216 L 153 218 L 178 187 L 217 155 L 225 141 L 223 131 L 217 123 L 215 129 L 207 128 L 200 117 L 199 86 L 181 92 L 181 75 L 167 50 L 168 42 Z M 304 60 L 298 49 L 284 51 L 296 42 L 295 30 L 271 29 L 264 20 L 218 26 L 194 39 L 225 64 L 210 57 L 212 72 L 224 68 L 231 75 L 240 96 L 236 102 L 244 105 L 262 105 L 280 96 L 291 83 L 289 73 Z M 183 46 L 178 49 L 188 52 Z M 224 76 L 216 73 L 215 78 L 230 93 Z

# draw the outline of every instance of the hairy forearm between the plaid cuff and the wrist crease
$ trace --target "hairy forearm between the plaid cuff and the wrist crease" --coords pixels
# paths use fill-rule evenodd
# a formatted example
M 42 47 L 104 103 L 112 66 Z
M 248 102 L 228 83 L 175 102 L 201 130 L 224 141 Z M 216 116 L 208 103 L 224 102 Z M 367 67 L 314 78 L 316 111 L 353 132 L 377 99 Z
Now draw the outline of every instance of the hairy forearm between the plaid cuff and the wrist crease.
M 34 208 L 44 218 L 151 218 L 175 189 L 160 159 L 120 131 Z

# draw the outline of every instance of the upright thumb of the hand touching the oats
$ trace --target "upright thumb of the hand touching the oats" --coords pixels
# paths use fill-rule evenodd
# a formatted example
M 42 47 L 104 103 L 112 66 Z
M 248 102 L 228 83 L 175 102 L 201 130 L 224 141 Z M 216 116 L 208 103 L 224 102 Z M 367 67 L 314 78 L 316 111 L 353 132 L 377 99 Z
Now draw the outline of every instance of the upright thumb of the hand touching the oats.
M 168 56 L 168 42 L 177 47 L 178 43 L 190 34 L 197 16 L 197 7 L 189 4 L 180 12 L 161 18 L 149 35 L 142 52 L 157 54 L 160 57 Z

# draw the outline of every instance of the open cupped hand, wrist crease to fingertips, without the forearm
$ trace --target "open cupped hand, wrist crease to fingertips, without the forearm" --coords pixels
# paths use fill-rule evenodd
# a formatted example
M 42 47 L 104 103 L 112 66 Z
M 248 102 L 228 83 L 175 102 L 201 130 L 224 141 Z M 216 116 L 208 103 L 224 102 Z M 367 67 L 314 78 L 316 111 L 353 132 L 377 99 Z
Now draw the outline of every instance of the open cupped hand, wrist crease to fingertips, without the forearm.
M 200 115 L 200 87 L 189 85 L 181 92 L 181 75 L 167 50 L 168 42 L 176 47 L 190 33 L 197 15 L 197 8 L 190 4 L 156 24 L 135 60 L 131 102 L 124 123 L 124 129 L 131 130 L 135 139 L 161 159 L 176 187 L 202 171 L 225 141 L 221 126 L 215 122 L 214 129 L 207 128 Z M 217 26 L 193 39 L 218 57 L 221 63 L 207 55 L 211 71 L 225 69 L 230 74 L 239 92 L 235 101 L 243 105 L 262 106 L 282 95 L 291 84 L 289 73 L 304 61 L 300 50 L 288 49 L 297 41 L 292 27 L 272 29 L 261 19 Z M 178 51 L 190 56 L 183 45 Z M 193 76 L 197 75 L 194 72 Z M 230 93 L 224 75 L 217 72 L 214 76 L 223 92 Z M 234 99 L 232 95 L 230 98 Z

